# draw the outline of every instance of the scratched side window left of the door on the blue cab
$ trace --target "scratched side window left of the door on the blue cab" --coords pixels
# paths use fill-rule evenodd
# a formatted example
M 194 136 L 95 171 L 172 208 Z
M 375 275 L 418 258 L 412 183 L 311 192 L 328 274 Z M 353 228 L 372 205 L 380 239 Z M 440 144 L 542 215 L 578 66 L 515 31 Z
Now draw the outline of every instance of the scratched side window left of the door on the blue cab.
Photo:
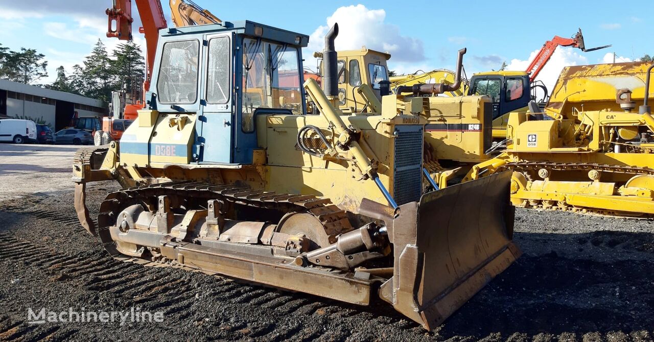
M 184 46 L 184 44 L 188 45 Z M 169 49 L 168 53 L 166 53 L 166 49 Z M 175 52 L 173 49 L 182 51 Z M 188 55 L 182 56 L 184 54 Z M 184 60 L 175 61 L 175 58 L 183 58 Z M 159 103 L 192 105 L 198 102 L 199 60 L 200 43 L 198 39 L 184 39 L 163 43 L 159 75 L 157 75 L 157 94 Z M 171 63 L 171 61 L 174 64 Z M 188 63 L 189 61 L 191 63 Z M 189 78 L 189 75 L 195 75 L 195 77 Z M 190 81 L 186 82 L 188 89 L 182 88 L 182 80 Z M 167 92 L 164 91 L 164 88 L 168 89 Z M 192 99 L 190 97 L 191 94 L 193 95 Z M 184 95 L 186 95 L 185 101 L 182 100 L 184 98 L 182 96 Z

